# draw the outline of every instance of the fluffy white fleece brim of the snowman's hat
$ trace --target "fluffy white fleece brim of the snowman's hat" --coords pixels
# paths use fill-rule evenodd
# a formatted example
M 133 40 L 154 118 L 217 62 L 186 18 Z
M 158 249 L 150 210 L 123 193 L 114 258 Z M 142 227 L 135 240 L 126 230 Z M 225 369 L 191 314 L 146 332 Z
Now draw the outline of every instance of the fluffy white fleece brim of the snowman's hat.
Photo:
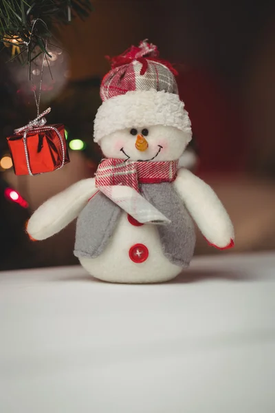
M 192 136 L 191 123 L 177 94 L 155 89 L 126 92 L 105 100 L 94 121 L 94 141 L 115 131 L 147 126 L 173 126 Z

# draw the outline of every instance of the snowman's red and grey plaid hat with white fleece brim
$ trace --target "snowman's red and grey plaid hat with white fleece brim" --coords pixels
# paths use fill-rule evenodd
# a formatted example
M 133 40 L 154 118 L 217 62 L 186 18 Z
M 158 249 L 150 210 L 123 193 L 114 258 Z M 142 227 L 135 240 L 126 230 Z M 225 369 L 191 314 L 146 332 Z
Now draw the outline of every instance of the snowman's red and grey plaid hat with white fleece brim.
M 153 125 L 177 127 L 191 138 L 188 113 L 177 91 L 177 72 L 158 56 L 155 45 L 142 41 L 109 59 L 111 71 L 100 86 L 95 142 L 117 130 Z

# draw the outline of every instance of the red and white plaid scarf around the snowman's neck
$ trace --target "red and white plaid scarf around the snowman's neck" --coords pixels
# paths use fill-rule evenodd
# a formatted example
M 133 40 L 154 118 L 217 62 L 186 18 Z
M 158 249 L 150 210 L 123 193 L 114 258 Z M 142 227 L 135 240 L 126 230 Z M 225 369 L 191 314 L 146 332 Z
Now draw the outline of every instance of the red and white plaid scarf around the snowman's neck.
M 142 197 L 139 184 L 173 182 L 178 161 L 150 162 L 104 159 L 96 171 L 96 187 L 138 222 L 165 224 L 170 222 Z

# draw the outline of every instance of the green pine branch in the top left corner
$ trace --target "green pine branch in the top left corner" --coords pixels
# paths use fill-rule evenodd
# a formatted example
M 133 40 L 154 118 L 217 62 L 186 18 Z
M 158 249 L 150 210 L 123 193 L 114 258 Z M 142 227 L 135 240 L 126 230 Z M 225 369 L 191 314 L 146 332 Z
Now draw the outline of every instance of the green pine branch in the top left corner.
M 91 11 L 90 0 L 0 0 L 0 42 L 17 47 L 18 56 L 27 47 L 30 64 L 34 54 L 45 52 L 55 27 L 85 19 Z

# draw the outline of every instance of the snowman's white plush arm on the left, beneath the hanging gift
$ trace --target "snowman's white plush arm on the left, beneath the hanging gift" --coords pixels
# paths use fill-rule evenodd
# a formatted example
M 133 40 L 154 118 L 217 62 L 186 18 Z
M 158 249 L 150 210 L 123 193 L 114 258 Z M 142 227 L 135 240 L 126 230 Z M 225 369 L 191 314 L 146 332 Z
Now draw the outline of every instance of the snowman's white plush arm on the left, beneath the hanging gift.
M 61 231 L 78 216 L 96 192 L 94 178 L 88 178 L 54 195 L 36 209 L 28 221 L 26 230 L 30 238 L 45 240 Z

